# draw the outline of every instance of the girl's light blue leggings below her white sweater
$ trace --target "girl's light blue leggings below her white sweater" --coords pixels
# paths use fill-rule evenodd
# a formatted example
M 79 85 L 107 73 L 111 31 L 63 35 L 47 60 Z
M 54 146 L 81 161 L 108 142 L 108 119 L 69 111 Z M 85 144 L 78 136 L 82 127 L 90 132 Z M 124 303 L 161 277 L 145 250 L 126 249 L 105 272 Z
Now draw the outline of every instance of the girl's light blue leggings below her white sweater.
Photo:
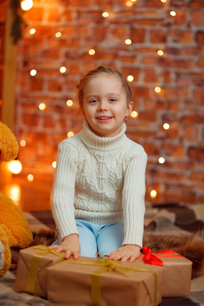
M 107 256 L 122 246 L 124 224 L 121 222 L 94 224 L 84 220 L 76 220 L 79 231 L 81 256 L 95 257 L 96 252 Z M 53 244 L 58 244 L 56 240 Z

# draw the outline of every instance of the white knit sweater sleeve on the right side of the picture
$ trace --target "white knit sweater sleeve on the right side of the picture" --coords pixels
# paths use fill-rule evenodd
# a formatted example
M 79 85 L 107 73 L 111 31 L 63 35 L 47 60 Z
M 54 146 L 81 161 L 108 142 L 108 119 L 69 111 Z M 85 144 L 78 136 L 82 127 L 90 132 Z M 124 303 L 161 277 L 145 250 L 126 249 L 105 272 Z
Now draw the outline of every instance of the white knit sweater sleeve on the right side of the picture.
M 122 205 L 124 219 L 124 244 L 142 247 L 145 213 L 145 171 L 147 154 L 140 147 L 130 159 L 124 175 Z

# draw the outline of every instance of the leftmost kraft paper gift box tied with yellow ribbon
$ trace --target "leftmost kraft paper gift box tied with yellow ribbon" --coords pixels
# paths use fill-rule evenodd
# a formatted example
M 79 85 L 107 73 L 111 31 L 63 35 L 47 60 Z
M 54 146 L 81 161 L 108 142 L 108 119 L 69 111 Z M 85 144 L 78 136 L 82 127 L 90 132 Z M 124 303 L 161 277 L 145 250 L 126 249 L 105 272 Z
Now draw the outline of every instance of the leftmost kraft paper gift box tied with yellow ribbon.
M 56 253 L 44 245 L 21 250 L 14 287 L 37 296 L 46 297 L 46 268 L 62 260 L 64 260 L 64 253 Z

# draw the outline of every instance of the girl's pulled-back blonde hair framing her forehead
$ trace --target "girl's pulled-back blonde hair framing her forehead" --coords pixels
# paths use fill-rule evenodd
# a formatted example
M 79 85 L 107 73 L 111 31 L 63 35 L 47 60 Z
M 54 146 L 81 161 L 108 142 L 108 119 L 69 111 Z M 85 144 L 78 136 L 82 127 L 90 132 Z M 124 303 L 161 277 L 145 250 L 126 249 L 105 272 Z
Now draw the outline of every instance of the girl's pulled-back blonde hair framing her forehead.
M 77 89 L 78 89 L 77 97 L 78 97 L 78 102 L 79 102 L 80 109 L 83 109 L 83 98 L 84 98 L 84 88 L 85 88 L 85 86 L 94 76 L 97 76 L 97 75 L 102 74 L 102 73 L 106 73 L 106 74 L 109 74 L 109 75 L 116 76 L 120 80 L 120 82 L 121 82 L 121 84 L 122 84 L 122 86 L 125 90 L 127 103 L 132 101 L 131 89 L 130 89 L 125 77 L 122 75 L 122 73 L 113 69 L 113 68 L 99 66 L 98 68 L 89 71 L 79 81 L 79 84 L 77 85 Z

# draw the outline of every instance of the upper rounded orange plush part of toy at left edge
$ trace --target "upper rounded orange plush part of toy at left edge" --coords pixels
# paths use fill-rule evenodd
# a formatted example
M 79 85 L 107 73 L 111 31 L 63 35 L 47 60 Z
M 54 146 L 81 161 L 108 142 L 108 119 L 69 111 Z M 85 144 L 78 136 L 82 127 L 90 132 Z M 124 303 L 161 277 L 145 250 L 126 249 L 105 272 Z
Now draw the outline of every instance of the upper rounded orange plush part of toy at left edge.
M 18 142 L 14 133 L 0 122 L 0 162 L 15 159 L 18 151 Z

